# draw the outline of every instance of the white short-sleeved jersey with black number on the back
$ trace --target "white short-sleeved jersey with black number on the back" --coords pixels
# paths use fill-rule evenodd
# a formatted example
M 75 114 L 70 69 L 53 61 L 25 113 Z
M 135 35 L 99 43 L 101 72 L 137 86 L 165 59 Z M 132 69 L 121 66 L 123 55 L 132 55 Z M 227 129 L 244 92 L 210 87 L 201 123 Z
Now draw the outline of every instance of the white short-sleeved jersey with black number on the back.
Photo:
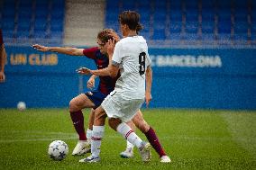
M 151 65 L 148 45 L 142 36 L 126 37 L 116 43 L 112 64 L 120 67 L 121 76 L 115 84 L 115 91 L 126 99 L 145 97 L 145 72 Z

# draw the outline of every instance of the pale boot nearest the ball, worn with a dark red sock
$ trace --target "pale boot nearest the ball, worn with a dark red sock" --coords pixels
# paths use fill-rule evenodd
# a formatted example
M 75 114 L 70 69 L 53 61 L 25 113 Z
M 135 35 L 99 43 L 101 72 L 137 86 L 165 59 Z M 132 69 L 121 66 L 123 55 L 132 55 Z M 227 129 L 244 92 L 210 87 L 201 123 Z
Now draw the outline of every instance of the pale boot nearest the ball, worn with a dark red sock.
M 91 151 L 91 144 L 87 140 L 78 140 L 77 146 L 72 152 L 72 156 L 82 156 Z

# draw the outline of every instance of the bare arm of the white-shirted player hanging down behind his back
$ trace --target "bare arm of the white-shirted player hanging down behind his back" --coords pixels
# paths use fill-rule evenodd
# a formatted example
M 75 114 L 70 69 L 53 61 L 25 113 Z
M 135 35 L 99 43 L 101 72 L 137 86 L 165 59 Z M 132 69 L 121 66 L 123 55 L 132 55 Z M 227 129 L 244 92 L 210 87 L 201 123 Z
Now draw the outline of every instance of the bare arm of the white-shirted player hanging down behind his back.
M 152 69 L 151 69 L 151 66 L 148 66 L 146 70 L 146 92 L 145 92 L 145 100 L 146 100 L 147 106 L 152 100 L 151 85 L 152 85 Z

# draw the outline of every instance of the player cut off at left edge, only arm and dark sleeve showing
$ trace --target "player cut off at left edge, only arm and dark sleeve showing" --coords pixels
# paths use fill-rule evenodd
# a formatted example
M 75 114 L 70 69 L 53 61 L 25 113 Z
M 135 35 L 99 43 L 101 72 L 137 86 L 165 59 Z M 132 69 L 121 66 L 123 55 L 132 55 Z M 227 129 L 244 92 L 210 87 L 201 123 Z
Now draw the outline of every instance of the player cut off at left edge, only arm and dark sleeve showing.
M 6 60 L 6 52 L 5 52 L 5 44 L 3 40 L 3 33 L 0 29 L 0 83 L 5 82 L 5 60 Z

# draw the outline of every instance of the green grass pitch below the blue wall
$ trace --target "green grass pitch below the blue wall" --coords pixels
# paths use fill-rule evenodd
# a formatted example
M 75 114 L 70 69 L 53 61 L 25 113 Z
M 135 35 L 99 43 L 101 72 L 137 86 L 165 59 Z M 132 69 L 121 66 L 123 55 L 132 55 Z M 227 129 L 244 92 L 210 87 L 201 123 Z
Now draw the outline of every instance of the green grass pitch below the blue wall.
M 154 150 L 148 164 L 141 162 L 137 149 L 132 159 L 119 157 L 126 142 L 108 125 L 102 161 L 82 164 L 78 160 L 83 157 L 71 156 L 77 135 L 68 111 L 0 109 L 0 169 L 256 169 L 256 112 L 143 110 L 171 164 L 161 164 Z M 69 156 L 62 161 L 52 161 L 47 155 L 55 139 L 69 145 Z

